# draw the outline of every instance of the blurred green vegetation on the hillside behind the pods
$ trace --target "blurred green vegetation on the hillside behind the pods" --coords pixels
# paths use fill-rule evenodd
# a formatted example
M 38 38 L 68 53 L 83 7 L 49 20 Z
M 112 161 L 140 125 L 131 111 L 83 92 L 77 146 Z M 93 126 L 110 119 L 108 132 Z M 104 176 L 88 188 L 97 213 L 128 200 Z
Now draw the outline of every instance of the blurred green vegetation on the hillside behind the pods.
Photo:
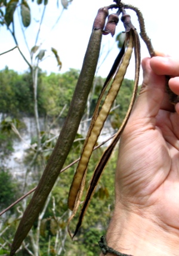
M 69 109 L 78 75 L 79 71 L 75 69 L 70 69 L 63 74 L 51 73 L 50 75 L 39 70 L 37 96 L 39 116 L 47 119 L 48 125 L 51 125 L 51 122 L 57 119 L 62 110 L 64 111 L 60 119 L 63 122 L 67 115 L 67 109 Z M 24 116 L 34 116 L 31 77 L 30 72 L 19 74 L 14 70 L 9 70 L 8 67 L 0 71 L 0 113 L 2 114 L 0 126 L 0 149 L 2 152 L 0 155 L 1 210 L 14 202 L 19 195 L 23 195 L 24 192 L 36 186 L 56 141 L 56 138 L 50 140 L 54 135 L 49 131 L 41 131 L 41 153 L 36 154 L 31 147 L 26 150 L 26 158 L 24 159 L 26 175 L 22 176 L 24 181 L 21 182 L 19 186 L 16 179 L 12 177 L 13 169 L 7 169 L 3 164 L 3 159 L 7 157 L 10 158 L 11 152 L 13 152 L 13 140 L 17 138 L 17 133 L 14 133 L 14 129 L 16 128 L 17 131 L 20 132 L 21 129 L 24 129 L 22 118 Z M 95 78 L 94 87 L 89 99 L 90 117 L 94 111 L 95 103 L 97 102 L 103 83 L 104 78 Z M 120 126 L 125 116 L 130 101 L 132 86 L 133 82 L 125 79 L 121 92 L 115 100 L 113 110 L 109 116 L 109 122 L 114 132 L 115 129 Z M 66 106 L 65 109 L 64 106 Z M 87 113 L 84 114 L 84 119 L 85 116 L 87 116 Z M 54 124 L 55 127 L 59 126 L 59 122 Z M 66 165 L 77 159 L 81 153 L 82 144 L 84 142 L 83 135 L 78 134 L 76 139 L 67 158 Z M 46 143 L 46 141 L 49 142 Z M 33 137 L 31 146 L 35 148 L 36 143 L 37 141 L 35 137 Z M 104 148 L 96 150 L 95 154 L 92 155 L 88 175 L 94 171 L 94 166 L 97 164 L 98 159 L 100 159 L 103 149 Z M 67 235 L 66 221 L 69 217 L 67 211 L 67 195 L 76 165 L 60 175 L 50 196 L 48 208 L 44 212 L 42 219 L 36 220 L 32 232 L 27 236 L 22 249 L 17 252 L 17 256 L 36 255 L 33 251 L 34 245 L 38 246 L 38 255 L 94 256 L 99 254 L 97 242 L 100 236 L 105 233 L 106 224 L 110 219 L 113 209 L 113 182 L 117 154 L 118 152 L 116 150 L 97 186 L 94 198 L 85 216 L 84 223 L 73 243 Z M 27 177 L 30 177 L 30 182 Z M 29 198 L 26 200 L 29 202 Z M 18 203 L 18 205 L 14 206 L 12 211 L 7 212 L 3 218 L 2 230 L 6 229 L 7 231 L 4 232 L 3 236 L 0 238 L 1 255 L 7 255 L 10 251 L 10 243 L 26 203 L 24 203 L 24 201 Z M 75 229 L 74 223 L 71 226 L 72 229 Z M 5 242 L 7 240 L 10 241 L 9 244 Z M 30 252 L 32 252 L 32 254 L 30 254 Z

